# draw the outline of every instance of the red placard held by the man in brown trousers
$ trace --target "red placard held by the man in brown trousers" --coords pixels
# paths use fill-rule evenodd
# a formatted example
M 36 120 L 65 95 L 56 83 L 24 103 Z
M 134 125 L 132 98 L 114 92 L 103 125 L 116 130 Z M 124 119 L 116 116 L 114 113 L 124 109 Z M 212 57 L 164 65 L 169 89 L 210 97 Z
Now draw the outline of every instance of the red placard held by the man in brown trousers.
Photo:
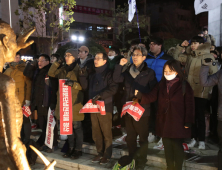
M 96 101 L 97 105 L 92 103 L 92 99 L 90 99 L 83 108 L 79 111 L 79 113 L 100 113 L 101 115 L 106 115 L 105 104 L 104 101 Z

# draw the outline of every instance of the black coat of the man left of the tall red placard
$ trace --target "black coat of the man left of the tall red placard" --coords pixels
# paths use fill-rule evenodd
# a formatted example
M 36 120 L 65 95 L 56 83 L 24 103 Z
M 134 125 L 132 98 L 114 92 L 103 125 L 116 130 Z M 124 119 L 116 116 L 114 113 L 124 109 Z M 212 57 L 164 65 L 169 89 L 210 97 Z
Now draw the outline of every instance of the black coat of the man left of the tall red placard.
M 35 110 L 37 106 L 39 109 L 56 106 L 56 92 L 58 90 L 58 80 L 48 76 L 51 64 L 42 69 L 35 68 L 30 63 L 27 64 L 23 74 L 32 79 L 32 93 L 31 93 L 31 111 Z M 43 109 L 45 112 L 47 109 Z M 48 111 L 47 111 L 48 113 Z M 42 113 L 39 114 L 47 114 Z

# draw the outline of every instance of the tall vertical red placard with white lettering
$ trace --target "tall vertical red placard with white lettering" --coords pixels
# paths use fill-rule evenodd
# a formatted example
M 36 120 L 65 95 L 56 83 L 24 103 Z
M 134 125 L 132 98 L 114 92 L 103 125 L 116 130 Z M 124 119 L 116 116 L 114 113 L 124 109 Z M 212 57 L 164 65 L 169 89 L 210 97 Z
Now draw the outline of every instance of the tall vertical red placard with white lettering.
M 66 79 L 59 80 L 60 134 L 72 135 L 72 90 L 65 85 Z

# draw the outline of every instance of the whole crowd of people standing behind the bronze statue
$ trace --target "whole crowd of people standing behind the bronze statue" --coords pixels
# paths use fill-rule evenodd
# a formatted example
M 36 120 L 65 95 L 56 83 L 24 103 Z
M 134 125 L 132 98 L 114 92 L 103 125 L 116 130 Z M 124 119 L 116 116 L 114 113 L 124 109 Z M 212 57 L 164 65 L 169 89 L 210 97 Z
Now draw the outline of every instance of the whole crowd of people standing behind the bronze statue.
M 82 155 L 85 136 L 91 135 L 98 155 L 92 162 L 106 164 L 112 156 L 113 107 L 118 114 L 126 102 L 139 103 L 144 109 L 136 121 L 126 113 L 121 119 L 127 133 L 129 159 L 135 160 L 136 169 L 144 169 L 147 162 L 149 133 L 162 138 L 167 169 L 182 170 L 184 139 L 190 138 L 189 147 L 198 142 L 205 149 L 205 110 L 214 85 L 219 88 L 218 136 L 222 149 L 222 72 L 212 43 L 202 36 L 177 45 L 170 55 L 164 52 L 163 40 L 151 37 L 149 52 L 143 44 L 133 44 L 127 56 L 117 48 L 108 54 L 89 55 L 89 49 L 68 49 L 64 56 L 41 54 L 38 59 L 25 64 L 17 53 L 4 74 L 12 77 L 21 106 L 37 111 L 38 126 L 42 133 L 37 143 L 40 150 L 53 152 L 58 146 L 58 128 L 54 128 L 53 148 L 44 145 L 49 108 L 60 119 L 58 80 L 66 79 L 72 89 L 73 134 L 68 135 L 65 158 L 78 159 Z M 105 115 L 82 114 L 80 109 L 92 99 L 104 101 Z M 90 121 L 91 120 L 91 121 Z M 87 126 L 90 124 L 91 128 Z M 31 134 L 29 118 L 24 116 L 22 140 L 28 142 Z M 137 148 L 139 136 L 140 148 Z M 219 151 L 222 155 L 222 150 Z

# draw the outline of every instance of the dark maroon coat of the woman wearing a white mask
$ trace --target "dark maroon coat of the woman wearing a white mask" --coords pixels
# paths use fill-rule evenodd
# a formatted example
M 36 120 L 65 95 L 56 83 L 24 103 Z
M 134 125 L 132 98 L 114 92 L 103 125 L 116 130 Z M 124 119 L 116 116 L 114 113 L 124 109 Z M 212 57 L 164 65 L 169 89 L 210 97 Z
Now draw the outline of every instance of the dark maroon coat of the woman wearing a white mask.
M 142 104 L 158 100 L 156 115 L 156 135 L 162 138 L 190 138 L 191 128 L 186 124 L 194 123 L 194 95 L 186 82 L 183 95 L 182 82 L 175 82 L 167 93 L 166 79 L 161 80 L 149 94 L 142 96 Z

